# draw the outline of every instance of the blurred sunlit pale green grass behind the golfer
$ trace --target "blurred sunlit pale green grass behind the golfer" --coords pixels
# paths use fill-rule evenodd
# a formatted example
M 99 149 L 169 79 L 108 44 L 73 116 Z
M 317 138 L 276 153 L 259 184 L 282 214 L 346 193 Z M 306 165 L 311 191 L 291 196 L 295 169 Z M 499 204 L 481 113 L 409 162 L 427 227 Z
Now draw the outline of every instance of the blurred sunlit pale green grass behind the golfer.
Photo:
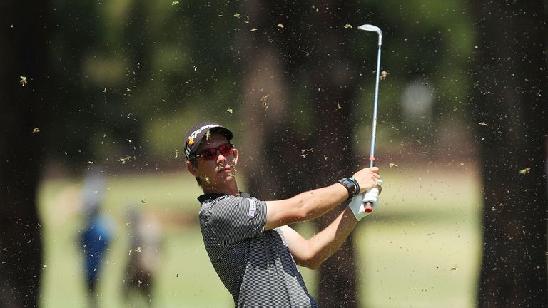
M 358 281 L 367 307 L 473 307 L 480 245 L 480 193 L 468 165 L 383 168 L 381 205 L 354 232 Z M 163 245 L 156 277 L 156 307 L 232 307 L 230 294 L 210 265 L 196 225 L 197 195 L 187 173 L 132 174 L 108 178 L 104 212 L 116 236 L 101 276 L 102 307 L 121 300 L 129 230 L 128 207 L 161 221 Z M 41 183 L 45 267 L 42 307 L 86 307 L 81 252 L 81 183 Z M 310 235 L 312 231 L 308 231 Z M 315 295 L 314 271 L 302 269 Z

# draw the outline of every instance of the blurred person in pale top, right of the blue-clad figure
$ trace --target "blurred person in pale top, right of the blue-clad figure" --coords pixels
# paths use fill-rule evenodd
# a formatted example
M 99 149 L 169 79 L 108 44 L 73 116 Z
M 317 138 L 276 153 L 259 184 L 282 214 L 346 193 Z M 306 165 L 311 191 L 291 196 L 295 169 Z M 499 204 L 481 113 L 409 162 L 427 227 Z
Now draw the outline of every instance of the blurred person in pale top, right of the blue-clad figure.
M 153 286 L 159 265 L 161 227 L 158 218 L 133 208 L 128 211 L 131 242 L 123 298 L 126 307 L 153 307 Z

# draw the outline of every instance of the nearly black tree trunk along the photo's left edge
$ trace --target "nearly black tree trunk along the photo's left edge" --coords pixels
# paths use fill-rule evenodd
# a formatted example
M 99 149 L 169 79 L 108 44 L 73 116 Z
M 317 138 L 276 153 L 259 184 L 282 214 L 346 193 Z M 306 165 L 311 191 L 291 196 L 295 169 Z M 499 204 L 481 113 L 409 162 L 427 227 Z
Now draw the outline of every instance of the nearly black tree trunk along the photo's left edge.
M 46 3 L 0 4 L 0 307 L 39 304 Z

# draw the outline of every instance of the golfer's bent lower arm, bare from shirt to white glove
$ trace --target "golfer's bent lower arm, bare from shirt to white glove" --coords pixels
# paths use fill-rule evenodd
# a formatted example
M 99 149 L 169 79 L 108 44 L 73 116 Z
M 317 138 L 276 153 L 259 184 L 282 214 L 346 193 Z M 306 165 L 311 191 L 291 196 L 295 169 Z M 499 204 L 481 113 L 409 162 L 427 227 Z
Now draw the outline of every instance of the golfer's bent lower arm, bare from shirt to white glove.
M 298 265 L 317 269 L 331 257 L 357 225 L 350 207 L 346 207 L 324 230 L 306 240 L 291 227 L 281 227 L 293 259 Z

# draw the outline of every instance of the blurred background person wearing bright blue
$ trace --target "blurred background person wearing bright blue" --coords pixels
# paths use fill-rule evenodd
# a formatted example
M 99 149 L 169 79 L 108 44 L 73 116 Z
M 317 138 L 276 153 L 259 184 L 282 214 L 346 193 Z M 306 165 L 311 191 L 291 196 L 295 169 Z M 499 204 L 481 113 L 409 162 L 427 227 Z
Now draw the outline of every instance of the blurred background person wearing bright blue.
M 82 188 L 85 225 L 81 230 L 80 245 L 90 307 L 98 307 L 97 282 L 113 232 L 110 215 L 101 211 L 105 195 L 104 178 L 101 168 L 90 168 L 86 172 Z

